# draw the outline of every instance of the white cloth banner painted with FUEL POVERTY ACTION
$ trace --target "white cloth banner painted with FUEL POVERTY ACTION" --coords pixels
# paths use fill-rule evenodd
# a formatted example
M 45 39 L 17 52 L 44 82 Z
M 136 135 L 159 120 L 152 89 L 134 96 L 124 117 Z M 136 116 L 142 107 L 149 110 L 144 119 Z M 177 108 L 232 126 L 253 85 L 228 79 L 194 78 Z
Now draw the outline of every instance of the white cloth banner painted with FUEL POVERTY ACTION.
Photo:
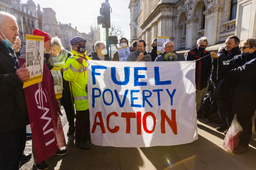
M 195 62 L 87 62 L 92 143 L 152 147 L 198 139 Z

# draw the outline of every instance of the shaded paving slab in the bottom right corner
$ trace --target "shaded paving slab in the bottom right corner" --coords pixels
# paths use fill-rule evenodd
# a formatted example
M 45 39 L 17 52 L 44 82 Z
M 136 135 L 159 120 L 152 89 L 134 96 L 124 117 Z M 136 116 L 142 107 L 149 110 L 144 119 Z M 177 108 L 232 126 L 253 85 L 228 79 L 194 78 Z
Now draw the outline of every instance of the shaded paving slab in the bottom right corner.
M 174 148 L 188 170 L 255 170 L 241 156 L 218 146 Z

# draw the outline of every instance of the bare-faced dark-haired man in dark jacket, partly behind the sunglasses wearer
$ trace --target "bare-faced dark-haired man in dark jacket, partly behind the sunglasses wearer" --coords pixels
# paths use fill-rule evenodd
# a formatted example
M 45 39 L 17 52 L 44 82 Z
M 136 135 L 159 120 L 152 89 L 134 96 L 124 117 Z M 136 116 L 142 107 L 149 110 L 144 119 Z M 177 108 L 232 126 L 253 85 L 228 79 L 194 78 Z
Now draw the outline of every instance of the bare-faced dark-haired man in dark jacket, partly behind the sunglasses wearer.
M 220 55 L 220 59 L 223 63 L 226 63 L 226 61 L 229 61 L 233 59 L 236 55 L 241 54 L 241 51 L 239 49 L 239 43 L 240 39 L 236 37 L 235 35 L 232 35 L 226 39 L 225 42 L 225 49 L 222 49 L 222 55 Z M 212 82 L 214 82 L 214 85 L 217 86 L 220 80 L 222 80 L 223 77 L 218 75 L 217 80 L 217 72 L 215 70 L 212 70 Z M 226 112 L 226 105 L 224 100 L 217 99 L 218 103 L 218 111 L 220 113 L 220 117 L 222 120 L 227 119 L 227 112 Z M 223 125 L 220 127 L 217 127 L 217 131 L 224 131 L 224 134 L 228 132 L 228 124 L 227 121 L 223 122 Z

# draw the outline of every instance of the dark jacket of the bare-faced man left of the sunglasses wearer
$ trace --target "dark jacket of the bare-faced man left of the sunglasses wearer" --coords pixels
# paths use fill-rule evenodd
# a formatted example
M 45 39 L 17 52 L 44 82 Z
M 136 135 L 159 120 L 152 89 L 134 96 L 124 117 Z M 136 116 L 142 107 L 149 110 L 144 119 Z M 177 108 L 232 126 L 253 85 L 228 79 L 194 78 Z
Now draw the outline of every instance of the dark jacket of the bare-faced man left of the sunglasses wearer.
M 239 49 L 239 46 L 232 48 L 231 52 L 232 54 L 229 55 L 228 51 L 226 51 L 225 49 L 222 50 L 224 53 L 222 55 L 220 55 L 220 59 L 222 60 L 223 64 L 226 63 L 226 61 L 229 61 L 231 59 L 233 59 L 236 55 L 240 55 L 241 51 Z M 220 80 L 222 80 L 222 76 L 218 75 L 218 80 L 217 80 L 217 73 L 215 70 L 212 70 L 212 82 L 214 82 L 215 86 L 217 86 L 217 84 L 220 82 Z

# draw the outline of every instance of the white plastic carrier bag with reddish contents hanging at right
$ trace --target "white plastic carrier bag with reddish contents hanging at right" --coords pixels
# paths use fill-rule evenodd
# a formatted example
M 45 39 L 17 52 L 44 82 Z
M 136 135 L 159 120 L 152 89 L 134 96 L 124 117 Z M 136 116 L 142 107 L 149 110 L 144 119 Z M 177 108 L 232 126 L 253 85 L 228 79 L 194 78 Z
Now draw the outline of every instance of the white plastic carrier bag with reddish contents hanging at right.
M 234 119 L 223 142 L 223 148 L 230 152 L 238 146 L 240 133 L 243 130 L 236 116 L 237 114 L 234 115 Z

